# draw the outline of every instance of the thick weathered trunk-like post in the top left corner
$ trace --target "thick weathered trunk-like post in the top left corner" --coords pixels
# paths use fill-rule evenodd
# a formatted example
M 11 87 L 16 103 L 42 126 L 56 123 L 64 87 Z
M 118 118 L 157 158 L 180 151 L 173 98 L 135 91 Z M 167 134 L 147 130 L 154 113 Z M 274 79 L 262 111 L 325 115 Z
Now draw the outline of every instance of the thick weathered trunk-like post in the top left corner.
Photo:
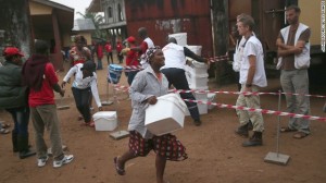
M 0 4 L 1 51 L 5 46 L 14 46 L 28 58 L 33 44 L 29 0 L 0 0 Z

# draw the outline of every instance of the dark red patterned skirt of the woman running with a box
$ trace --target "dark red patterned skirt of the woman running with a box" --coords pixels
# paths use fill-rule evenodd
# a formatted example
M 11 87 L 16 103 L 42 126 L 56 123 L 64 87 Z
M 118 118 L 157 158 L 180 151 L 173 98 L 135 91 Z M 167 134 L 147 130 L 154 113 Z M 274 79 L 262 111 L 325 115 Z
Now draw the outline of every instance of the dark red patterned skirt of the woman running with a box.
M 129 150 L 135 156 L 147 156 L 151 150 L 166 160 L 181 161 L 188 158 L 186 148 L 175 135 L 165 134 L 145 139 L 138 132 L 129 132 Z

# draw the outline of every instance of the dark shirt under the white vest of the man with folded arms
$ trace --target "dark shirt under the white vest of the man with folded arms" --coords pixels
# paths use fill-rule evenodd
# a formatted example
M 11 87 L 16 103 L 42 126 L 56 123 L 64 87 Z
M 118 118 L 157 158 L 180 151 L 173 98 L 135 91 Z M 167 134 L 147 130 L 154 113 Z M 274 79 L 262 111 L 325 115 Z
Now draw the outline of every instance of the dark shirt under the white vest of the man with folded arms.
M 285 42 L 284 37 L 281 36 L 280 33 L 278 34 L 278 38 L 280 38 L 283 40 L 283 42 L 285 42 L 288 46 L 294 46 L 297 29 L 298 28 L 291 30 L 291 28 L 290 28 L 287 42 Z M 299 40 L 308 42 L 309 38 L 310 38 L 310 34 L 311 34 L 310 28 L 306 28 L 299 36 Z M 283 70 L 287 70 L 287 71 L 296 70 L 296 68 L 294 68 L 294 54 L 289 54 L 289 56 L 283 57 L 283 63 L 284 63 L 283 66 L 281 66 Z

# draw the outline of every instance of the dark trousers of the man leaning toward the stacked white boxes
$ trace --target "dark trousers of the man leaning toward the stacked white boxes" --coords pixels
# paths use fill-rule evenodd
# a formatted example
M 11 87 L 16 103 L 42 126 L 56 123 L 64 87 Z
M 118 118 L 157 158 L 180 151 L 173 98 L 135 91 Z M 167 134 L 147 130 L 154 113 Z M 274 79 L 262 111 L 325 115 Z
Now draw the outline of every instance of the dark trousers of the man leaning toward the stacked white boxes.
M 163 69 L 162 73 L 166 76 L 168 81 L 168 87 L 173 85 L 176 89 L 190 90 L 185 70 L 177 69 L 177 68 L 168 68 L 168 69 Z M 192 93 L 180 94 L 180 97 L 183 99 L 196 100 Z M 197 103 L 186 101 L 186 105 L 188 107 L 191 118 L 193 120 L 200 120 Z

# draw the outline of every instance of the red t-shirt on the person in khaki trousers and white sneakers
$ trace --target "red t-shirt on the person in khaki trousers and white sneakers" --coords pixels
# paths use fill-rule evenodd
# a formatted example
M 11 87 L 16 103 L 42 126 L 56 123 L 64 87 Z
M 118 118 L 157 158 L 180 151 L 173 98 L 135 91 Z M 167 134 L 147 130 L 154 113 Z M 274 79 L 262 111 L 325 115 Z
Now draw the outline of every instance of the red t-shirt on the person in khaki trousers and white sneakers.
M 53 85 L 59 82 L 52 63 L 47 63 L 43 74 L 42 86 L 40 90 L 30 88 L 28 96 L 29 107 L 38 107 L 42 105 L 54 105 Z

